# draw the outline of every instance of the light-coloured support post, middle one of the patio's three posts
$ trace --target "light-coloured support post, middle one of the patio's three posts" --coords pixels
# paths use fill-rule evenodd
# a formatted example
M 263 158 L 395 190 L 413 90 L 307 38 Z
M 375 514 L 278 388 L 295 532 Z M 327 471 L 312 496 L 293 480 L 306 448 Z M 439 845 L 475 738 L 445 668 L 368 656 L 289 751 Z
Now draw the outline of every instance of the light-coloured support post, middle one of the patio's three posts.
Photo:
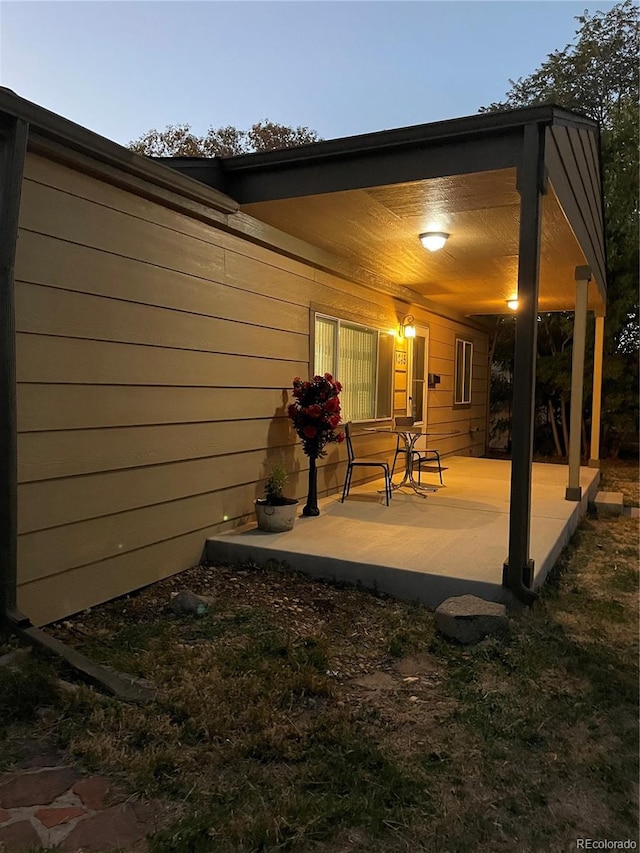
M 582 433 L 582 389 L 584 385 L 584 348 L 587 336 L 587 294 L 591 270 L 576 267 L 576 310 L 573 320 L 573 350 L 571 355 L 571 408 L 569 422 L 569 485 L 565 492 L 568 501 L 582 499 L 580 486 L 580 448 Z

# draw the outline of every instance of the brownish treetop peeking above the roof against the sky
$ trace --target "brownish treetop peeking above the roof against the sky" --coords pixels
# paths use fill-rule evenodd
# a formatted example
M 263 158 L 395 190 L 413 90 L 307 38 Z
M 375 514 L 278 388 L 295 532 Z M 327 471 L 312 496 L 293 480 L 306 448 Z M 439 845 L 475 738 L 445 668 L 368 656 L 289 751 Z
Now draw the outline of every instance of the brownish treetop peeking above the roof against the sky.
M 196 136 L 188 124 L 170 124 L 164 130 L 149 130 L 129 143 L 129 148 L 149 157 L 232 157 L 254 151 L 276 151 L 319 142 L 315 130 L 288 127 L 278 122 L 259 121 L 249 130 L 210 127 L 204 136 Z

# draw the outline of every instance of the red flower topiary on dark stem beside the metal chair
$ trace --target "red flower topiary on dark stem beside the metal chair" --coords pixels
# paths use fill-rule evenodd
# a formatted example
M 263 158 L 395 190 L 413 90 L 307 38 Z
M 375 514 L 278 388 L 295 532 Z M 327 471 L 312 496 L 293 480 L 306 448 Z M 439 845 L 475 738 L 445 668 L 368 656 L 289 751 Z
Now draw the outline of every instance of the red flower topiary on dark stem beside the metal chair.
M 344 440 L 344 433 L 336 432 L 342 420 L 338 396 L 341 391 L 342 385 L 330 373 L 314 376 L 311 382 L 303 382 L 299 376 L 293 380 L 295 402 L 290 404 L 287 414 L 309 457 L 309 492 L 302 510 L 306 516 L 320 515 L 316 461 L 327 455 L 327 444 Z

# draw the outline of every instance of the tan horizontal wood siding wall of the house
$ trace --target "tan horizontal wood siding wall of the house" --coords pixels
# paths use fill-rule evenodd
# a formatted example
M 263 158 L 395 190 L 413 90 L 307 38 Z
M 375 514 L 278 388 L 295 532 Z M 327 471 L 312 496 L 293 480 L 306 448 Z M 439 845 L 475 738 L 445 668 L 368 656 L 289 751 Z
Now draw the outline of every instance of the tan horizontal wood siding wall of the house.
M 313 309 L 384 329 L 407 310 L 35 154 L 16 299 L 18 603 L 37 624 L 195 565 L 206 536 L 252 516 L 270 459 L 284 454 L 303 497 L 285 410 L 292 377 L 309 372 Z M 430 424 L 460 430 L 439 448 L 479 455 L 486 338 L 412 311 L 442 377 Z M 456 336 L 474 342 L 467 409 L 452 406 Z M 344 457 L 332 447 L 321 492 L 341 488 Z

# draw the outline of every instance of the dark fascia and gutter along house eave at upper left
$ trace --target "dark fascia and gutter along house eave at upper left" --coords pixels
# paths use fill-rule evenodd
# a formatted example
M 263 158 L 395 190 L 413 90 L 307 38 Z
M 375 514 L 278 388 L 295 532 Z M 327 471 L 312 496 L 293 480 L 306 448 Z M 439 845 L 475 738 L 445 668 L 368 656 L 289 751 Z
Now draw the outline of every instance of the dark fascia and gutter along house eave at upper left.
M 162 168 L 151 158 L 135 154 L 100 136 L 69 119 L 62 118 L 37 104 L 27 101 L 0 86 L 0 114 L 5 113 L 22 119 L 29 129 L 45 139 L 63 143 L 68 148 L 82 154 L 90 154 L 94 159 L 122 169 L 138 178 L 151 181 L 165 189 L 200 202 L 206 202 L 222 213 L 235 213 L 238 203 L 216 188 L 206 187 L 179 171 Z

